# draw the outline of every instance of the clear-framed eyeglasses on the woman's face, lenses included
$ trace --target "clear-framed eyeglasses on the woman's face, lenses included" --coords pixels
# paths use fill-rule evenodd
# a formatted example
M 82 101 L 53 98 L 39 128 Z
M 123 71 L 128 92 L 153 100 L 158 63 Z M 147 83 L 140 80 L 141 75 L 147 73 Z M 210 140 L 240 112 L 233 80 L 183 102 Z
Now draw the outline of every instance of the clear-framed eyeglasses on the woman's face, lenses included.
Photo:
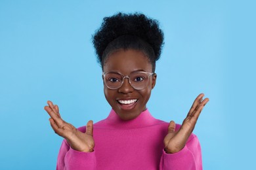
M 154 75 L 154 73 L 148 73 L 146 71 L 135 71 L 128 76 L 124 76 L 116 72 L 102 73 L 102 76 L 104 77 L 104 83 L 111 90 L 116 90 L 117 88 L 120 88 L 125 78 L 129 79 L 129 83 L 134 89 L 142 90 L 146 88 L 149 76 L 152 75 Z

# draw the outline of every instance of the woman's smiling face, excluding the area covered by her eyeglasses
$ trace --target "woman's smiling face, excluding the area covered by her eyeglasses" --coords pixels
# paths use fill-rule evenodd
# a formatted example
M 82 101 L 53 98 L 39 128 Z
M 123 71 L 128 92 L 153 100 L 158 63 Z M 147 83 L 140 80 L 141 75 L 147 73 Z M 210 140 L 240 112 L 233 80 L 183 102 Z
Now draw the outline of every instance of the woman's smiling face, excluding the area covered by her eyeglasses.
M 104 73 L 117 72 L 124 76 L 135 71 L 152 73 L 152 64 L 143 52 L 139 50 L 117 50 L 108 56 L 103 66 Z M 150 98 L 151 90 L 156 84 L 156 74 L 149 76 L 146 87 L 135 90 L 129 79 L 124 78 L 123 84 L 116 90 L 111 90 L 104 84 L 104 94 L 112 109 L 122 120 L 131 120 L 146 110 L 146 103 Z M 126 104 L 121 104 L 126 103 Z M 129 104 L 127 104 L 129 103 Z

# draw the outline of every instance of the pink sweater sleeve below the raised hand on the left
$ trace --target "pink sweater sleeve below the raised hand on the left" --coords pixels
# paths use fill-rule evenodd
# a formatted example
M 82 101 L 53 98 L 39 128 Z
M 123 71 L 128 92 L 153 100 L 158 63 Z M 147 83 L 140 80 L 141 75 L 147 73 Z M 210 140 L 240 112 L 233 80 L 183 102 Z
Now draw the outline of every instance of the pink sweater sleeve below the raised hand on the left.
M 96 158 L 94 152 L 79 152 L 70 147 L 64 140 L 58 153 L 57 170 L 95 169 Z

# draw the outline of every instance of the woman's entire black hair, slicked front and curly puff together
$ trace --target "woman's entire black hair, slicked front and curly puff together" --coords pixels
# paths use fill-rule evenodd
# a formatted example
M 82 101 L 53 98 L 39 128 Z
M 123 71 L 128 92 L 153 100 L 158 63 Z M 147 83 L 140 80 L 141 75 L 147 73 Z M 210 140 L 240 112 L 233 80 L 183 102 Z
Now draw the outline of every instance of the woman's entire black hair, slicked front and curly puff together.
M 123 14 L 105 17 L 93 35 L 98 62 L 102 69 L 106 58 L 119 49 L 141 50 L 152 63 L 155 71 L 163 46 L 163 32 L 158 21 L 144 14 Z

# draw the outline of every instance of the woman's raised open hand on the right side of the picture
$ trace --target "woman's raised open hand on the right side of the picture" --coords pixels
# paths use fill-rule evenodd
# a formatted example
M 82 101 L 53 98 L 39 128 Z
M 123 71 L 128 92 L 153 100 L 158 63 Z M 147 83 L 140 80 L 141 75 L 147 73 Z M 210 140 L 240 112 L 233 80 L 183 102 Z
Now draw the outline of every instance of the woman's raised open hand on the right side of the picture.
M 182 148 L 184 148 L 188 137 L 190 137 L 194 127 L 196 126 L 200 112 L 209 101 L 208 98 L 203 99 L 203 96 L 204 94 L 201 93 L 198 95 L 198 97 L 196 97 L 191 109 L 188 112 L 188 115 L 182 122 L 181 128 L 178 131 L 175 131 L 175 122 L 170 122 L 168 134 L 163 140 L 163 143 L 165 144 L 165 152 L 167 152 L 167 154 L 179 152 L 182 150 Z

